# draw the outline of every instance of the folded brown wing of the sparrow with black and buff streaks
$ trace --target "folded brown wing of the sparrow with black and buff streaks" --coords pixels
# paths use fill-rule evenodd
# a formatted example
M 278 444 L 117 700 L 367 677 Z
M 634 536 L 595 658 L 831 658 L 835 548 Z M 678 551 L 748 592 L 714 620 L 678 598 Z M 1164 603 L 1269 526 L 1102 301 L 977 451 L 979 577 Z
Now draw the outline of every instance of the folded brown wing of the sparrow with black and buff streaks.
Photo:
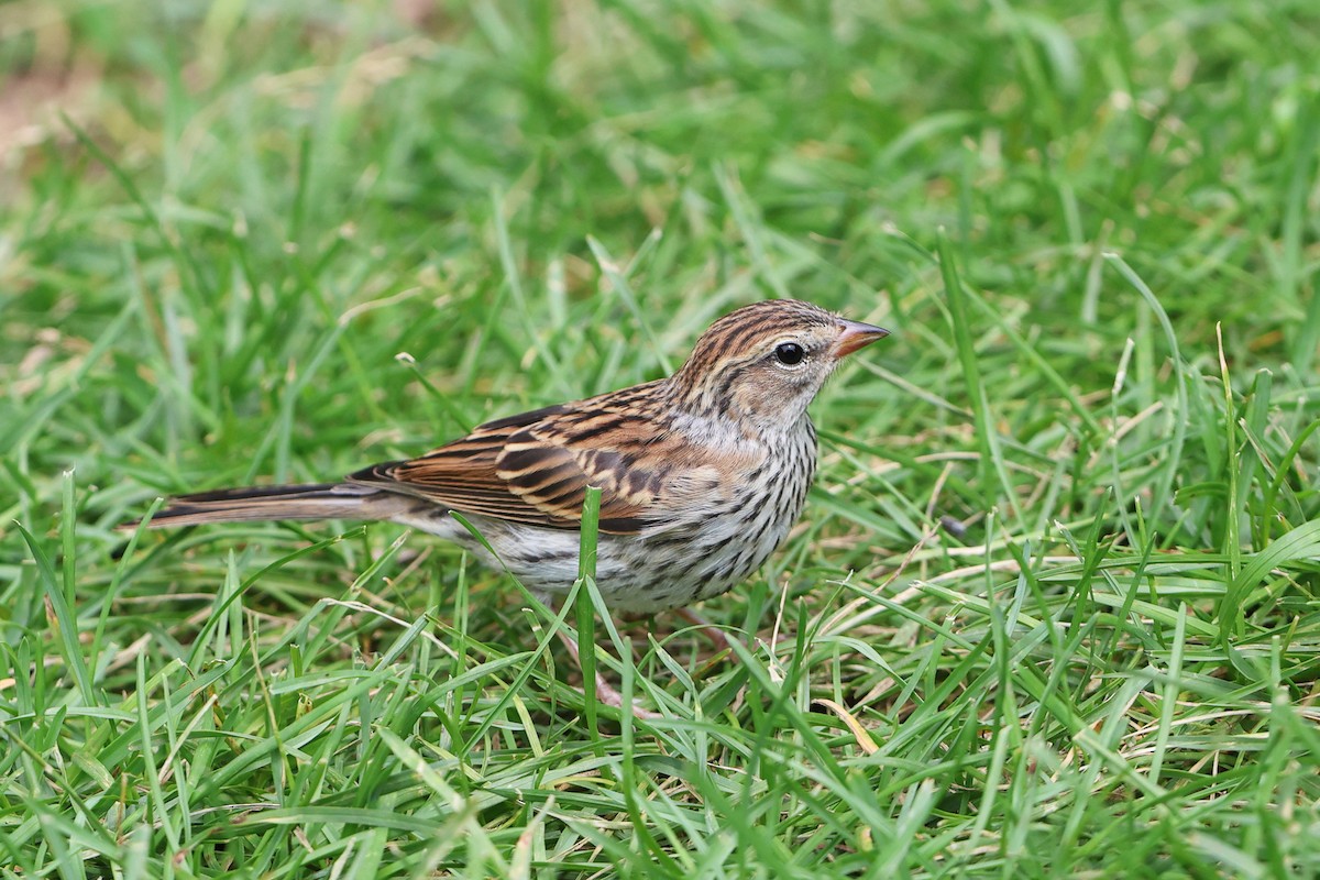
M 727 491 L 715 463 L 639 408 L 645 385 L 503 418 L 405 462 L 348 479 L 461 513 L 577 529 L 586 487 L 601 489 L 601 532 L 663 525 L 702 493 Z

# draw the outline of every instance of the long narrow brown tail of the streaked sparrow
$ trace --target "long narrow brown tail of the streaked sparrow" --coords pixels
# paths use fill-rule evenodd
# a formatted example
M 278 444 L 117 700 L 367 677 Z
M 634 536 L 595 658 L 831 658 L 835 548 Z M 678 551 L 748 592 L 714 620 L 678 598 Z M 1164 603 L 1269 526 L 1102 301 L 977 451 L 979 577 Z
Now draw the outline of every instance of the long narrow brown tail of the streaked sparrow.
M 170 499 L 148 526 L 161 529 L 261 520 L 388 520 L 407 507 L 408 499 L 401 495 L 354 483 L 253 486 Z M 120 528 L 132 530 L 139 522 L 141 520 Z

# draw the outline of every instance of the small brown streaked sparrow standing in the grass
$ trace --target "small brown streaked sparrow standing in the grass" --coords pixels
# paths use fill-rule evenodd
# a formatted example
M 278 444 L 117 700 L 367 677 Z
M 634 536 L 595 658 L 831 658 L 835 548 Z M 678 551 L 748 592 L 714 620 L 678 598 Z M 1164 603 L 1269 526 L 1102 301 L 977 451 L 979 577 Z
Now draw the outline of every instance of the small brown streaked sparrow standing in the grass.
M 611 613 L 688 615 L 784 542 L 816 471 L 808 405 L 845 356 L 887 335 L 808 302 L 754 302 L 718 318 L 665 379 L 498 418 L 335 483 L 177 496 L 145 525 L 389 520 L 552 600 L 578 578 L 582 504 L 597 487 L 595 579 Z M 597 693 L 620 705 L 603 679 Z

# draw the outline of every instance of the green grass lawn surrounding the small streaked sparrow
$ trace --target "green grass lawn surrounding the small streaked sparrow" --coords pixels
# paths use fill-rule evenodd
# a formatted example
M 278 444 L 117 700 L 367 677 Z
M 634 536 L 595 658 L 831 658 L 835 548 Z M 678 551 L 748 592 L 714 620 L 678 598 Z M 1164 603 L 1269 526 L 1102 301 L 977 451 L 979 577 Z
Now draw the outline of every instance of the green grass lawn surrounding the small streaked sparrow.
M 0 21 L 0 875 L 1320 864 L 1312 4 Z M 594 623 L 657 720 L 574 687 L 589 616 L 424 536 L 114 530 L 774 296 L 895 335 L 704 610 L 746 648 Z

